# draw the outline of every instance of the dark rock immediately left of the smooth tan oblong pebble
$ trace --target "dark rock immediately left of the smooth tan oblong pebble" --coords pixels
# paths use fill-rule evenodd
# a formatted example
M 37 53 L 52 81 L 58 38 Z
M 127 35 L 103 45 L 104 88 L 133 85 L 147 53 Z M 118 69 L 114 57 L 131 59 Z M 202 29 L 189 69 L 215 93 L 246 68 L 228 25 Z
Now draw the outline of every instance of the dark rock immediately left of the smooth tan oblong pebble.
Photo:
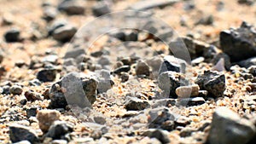
M 160 89 L 164 90 L 170 98 L 177 98 L 175 90 L 179 86 L 188 84 L 188 82 L 181 73 L 167 71 L 160 74 L 158 84 Z

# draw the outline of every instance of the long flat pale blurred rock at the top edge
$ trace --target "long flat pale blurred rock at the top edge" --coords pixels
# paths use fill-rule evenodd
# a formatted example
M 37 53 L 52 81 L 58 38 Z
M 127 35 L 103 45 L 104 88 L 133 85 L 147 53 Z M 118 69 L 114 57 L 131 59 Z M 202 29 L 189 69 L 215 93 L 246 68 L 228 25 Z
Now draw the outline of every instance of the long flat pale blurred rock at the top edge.
M 172 5 L 174 3 L 177 3 L 178 0 L 158 0 L 158 1 L 150 1 L 150 0 L 143 0 L 137 3 L 134 3 L 131 5 L 130 9 L 132 10 L 146 10 L 146 9 L 154 9 L 157 7 L 165 7 L 168 5 Z

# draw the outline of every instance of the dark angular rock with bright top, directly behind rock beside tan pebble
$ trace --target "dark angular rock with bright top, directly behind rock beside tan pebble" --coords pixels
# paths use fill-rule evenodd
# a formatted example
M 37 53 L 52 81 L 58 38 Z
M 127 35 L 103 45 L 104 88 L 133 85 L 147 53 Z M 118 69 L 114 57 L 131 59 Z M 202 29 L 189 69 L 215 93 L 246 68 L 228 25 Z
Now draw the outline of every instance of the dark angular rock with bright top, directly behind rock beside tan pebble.
M 172 72 L 185 72 L 185 61 L 177 59 L 174 56 L 167 55 L 161 63 L 159 73 L 172 71 Z

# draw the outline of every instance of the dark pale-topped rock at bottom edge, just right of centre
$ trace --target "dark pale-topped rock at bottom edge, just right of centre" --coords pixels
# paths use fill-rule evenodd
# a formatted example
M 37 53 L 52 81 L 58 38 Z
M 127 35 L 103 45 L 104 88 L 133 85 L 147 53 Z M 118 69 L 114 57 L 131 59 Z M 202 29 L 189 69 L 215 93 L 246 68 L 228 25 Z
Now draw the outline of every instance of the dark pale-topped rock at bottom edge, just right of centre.
M 170 142 L 168 133 L 163 130 L 149 129 L 149 130 L 143 132 L 143 136 L 148 136 L 150 138 L 156 138 L 163 144 Z

